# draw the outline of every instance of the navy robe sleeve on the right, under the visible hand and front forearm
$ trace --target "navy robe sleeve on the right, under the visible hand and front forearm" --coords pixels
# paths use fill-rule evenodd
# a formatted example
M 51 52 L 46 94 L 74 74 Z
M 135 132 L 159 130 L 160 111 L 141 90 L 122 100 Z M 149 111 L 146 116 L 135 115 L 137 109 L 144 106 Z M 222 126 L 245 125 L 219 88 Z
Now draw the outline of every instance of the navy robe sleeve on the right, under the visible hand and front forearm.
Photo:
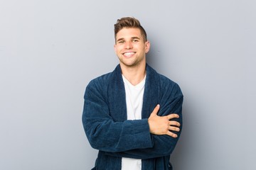
M 177 113 L 179 115 L 178 119 L 173 119 L 181 123 L 180 129 L 182 130 L 182 103 L 183 94 L 181 89 L 176 86 L 174 89 L 168 89 L 161 98 L 160 110 L 158 115 L 169 115 L 170 113 Z M 134 159 L 151 159 L 156 157 L 169 156 L 176 147 L 178 138 L 181 135 L 181 130 L 175 132 L 178 137 L 170 137 L 169 135 L 152 135 L 151 141 L 153 142 L 152 147 L 131 149 L 124 152 L 107 152 L 106 154 L 115 157 L 129 157 Z M 145 139 L 146 140 L 146 139 Z

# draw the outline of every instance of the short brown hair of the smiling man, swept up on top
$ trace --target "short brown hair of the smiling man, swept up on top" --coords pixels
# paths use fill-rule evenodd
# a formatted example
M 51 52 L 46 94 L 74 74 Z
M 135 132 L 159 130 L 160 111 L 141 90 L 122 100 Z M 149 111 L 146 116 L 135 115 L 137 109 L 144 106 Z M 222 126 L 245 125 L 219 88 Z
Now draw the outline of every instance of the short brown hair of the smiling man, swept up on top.
M 144 42 L 147 41 L 146 38 L 146 31 L 144 28 L 140 25 L 139 20 L 132 17 L 124 17 L 117 20 L 117 23 L 114 24 L 114 39 L 117 41 L 117 33 L 119 30 L 122 30 L 122 28 L 139 28 L 139 30 L 142 33 L 142 37 L 144 38 Z

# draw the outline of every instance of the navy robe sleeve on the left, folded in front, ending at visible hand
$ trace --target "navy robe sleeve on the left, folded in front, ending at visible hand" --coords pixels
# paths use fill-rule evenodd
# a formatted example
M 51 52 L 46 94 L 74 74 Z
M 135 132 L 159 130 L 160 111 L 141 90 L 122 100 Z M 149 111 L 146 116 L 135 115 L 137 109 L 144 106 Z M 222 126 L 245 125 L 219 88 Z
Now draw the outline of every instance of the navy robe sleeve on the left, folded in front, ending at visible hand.
M 82 124 L 93 148 L 124 152 L 153 146 L 147 119 L 114 121 L 104 90 L 97 83 L 88 84 L 84 98 Z

